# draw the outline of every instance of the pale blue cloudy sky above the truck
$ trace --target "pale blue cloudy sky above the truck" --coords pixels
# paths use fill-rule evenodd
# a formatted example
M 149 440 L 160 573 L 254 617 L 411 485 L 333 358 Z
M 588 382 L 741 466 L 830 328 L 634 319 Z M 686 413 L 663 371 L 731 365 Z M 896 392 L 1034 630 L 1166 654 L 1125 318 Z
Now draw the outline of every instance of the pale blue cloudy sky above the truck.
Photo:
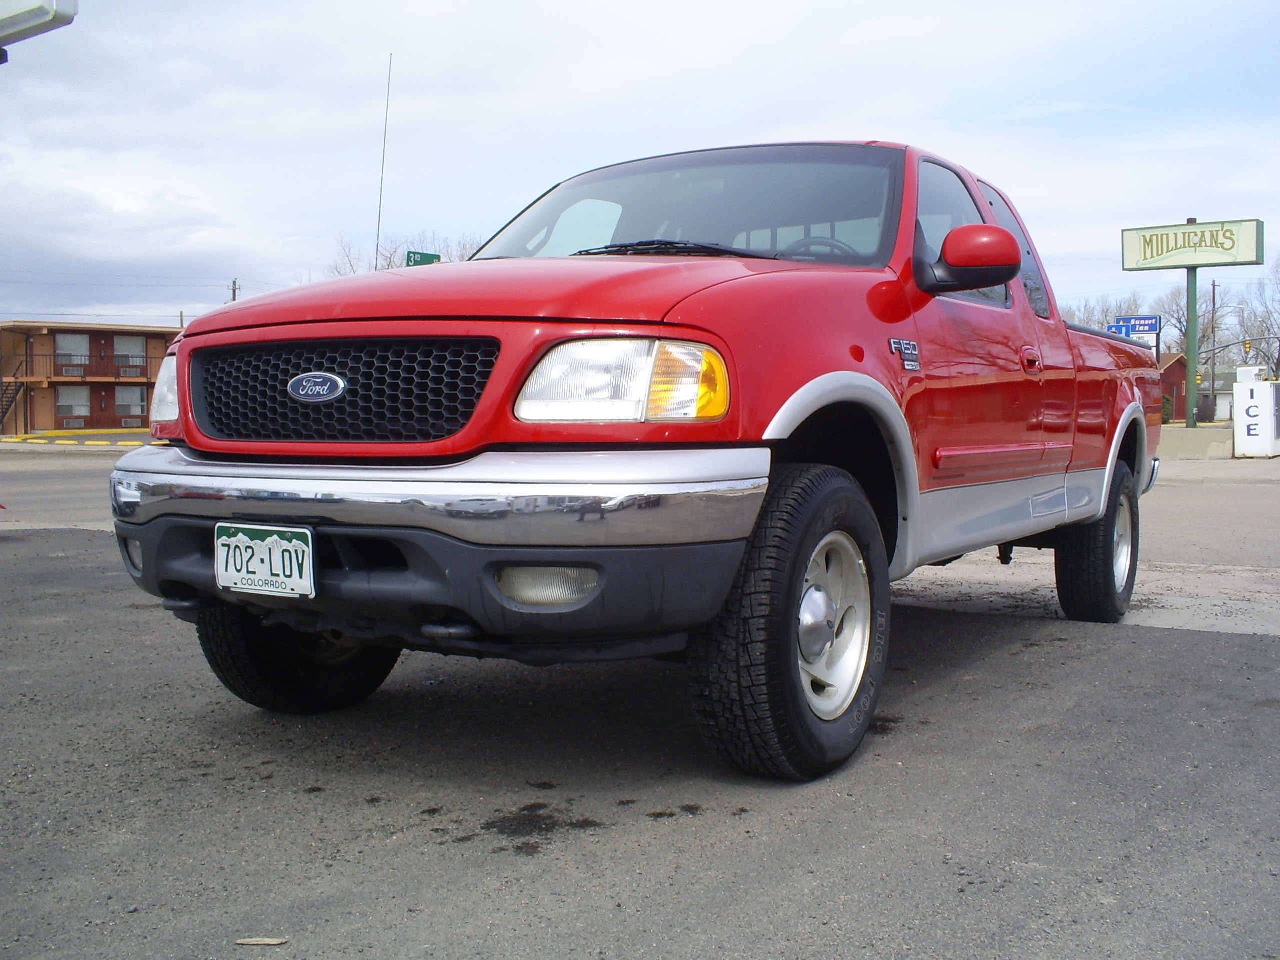
M 1280 253 L 1280 5 L 81 0 L 0 67 L 0 319 L 175 321 L 383 233 L 489 236 L 593 166 L 891 140 L 1019 206 L 1064 302 L 1160 293 L 1120 229 Z M 1262 268 L 1206 271 L 1229 284 Z

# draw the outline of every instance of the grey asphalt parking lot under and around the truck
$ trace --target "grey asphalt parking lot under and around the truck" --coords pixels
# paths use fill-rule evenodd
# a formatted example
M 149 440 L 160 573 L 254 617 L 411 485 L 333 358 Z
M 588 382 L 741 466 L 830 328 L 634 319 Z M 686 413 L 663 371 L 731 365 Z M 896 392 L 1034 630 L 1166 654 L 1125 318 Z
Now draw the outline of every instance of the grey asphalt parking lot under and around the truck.
M 1280 956 L 1280 461 L 1165 465 L 1119 626 L 1034 550 L 899 584 L 808 785 L 712 760 L 675 663 L 252 709 L 124 573 L 113 462 L 0 449 L 6 956 Z

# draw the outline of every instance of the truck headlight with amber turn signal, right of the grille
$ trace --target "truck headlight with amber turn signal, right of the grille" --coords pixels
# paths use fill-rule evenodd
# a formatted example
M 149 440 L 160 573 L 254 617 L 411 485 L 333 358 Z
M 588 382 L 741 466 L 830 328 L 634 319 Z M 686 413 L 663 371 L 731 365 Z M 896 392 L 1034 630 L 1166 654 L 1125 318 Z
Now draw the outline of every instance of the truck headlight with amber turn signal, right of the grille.
M 596 339 L 562 343 L 516 401 L 535 424 L 719 420 L 728 411 L 724 360 L 701 343 Z

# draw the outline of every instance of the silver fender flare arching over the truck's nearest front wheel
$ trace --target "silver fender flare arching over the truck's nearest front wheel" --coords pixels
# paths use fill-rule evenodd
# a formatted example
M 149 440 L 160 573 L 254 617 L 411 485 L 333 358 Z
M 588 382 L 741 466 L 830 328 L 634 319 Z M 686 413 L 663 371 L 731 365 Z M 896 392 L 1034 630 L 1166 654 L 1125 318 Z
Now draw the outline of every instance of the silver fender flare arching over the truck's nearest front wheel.
M 832 403 L 856 403 L 876 417 L 897 480 L 897 549 L 890 561 L 892 580 L 901 580 L 915 570 L 918 552 L 918 517 L 920 513 L 920 480 L 915 466 L 915 444 L 902 408 L 888 389 L 868 376 L 851 370 L 823 374 L 810 380 L 782 404 L 764 431 L 765 440 L 785 440 L 800 424 Z

